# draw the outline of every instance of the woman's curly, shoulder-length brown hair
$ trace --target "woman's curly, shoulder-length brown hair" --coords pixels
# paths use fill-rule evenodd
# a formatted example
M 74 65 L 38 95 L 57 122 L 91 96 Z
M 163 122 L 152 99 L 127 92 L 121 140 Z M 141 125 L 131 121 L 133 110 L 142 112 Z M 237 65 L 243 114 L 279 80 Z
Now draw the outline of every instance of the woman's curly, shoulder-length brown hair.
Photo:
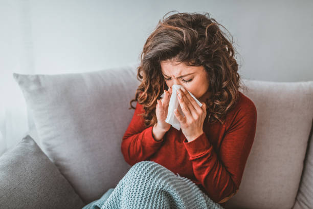
M 223 26 L 210 18 L 207 12 L 176 13 L 165 18 L 170 12 L 163 16 L 162 22 L 159 20 L 143 47 L 137 68 L 137 79 L 141 83 L 135 99 L 130 101 L 129 109 L 135 109 L 131 103 L 137 101 L 145 110 L 140 114 L 144 116 L 145 126 L 157 123 L 157 99 L 161 99 L 164 89 L 168 89 L 160 63 L 184 62 L 187 66 L 205 68 L 209 79 L 208 91 L 211 92 L 211 97 L 206 101 L 206 118 L 208 122 L 218 120 L 223 123 L 228 111 L 235 106 L 241 87 L 238 64 L 234 58 L 237 51 L 232 46 L 233 37 L 230 42 L 227 34 L 218 27 Z

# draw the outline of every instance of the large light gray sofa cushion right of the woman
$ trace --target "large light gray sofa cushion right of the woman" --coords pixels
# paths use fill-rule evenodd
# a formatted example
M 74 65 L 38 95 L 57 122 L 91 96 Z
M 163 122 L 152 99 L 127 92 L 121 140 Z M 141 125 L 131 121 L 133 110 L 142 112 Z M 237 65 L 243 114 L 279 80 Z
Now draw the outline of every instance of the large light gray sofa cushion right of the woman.
M 257 108 L 256 135 L 239 191 L 223 206 L 292 208 L 312 126 L 313 81 L 245 85 Z

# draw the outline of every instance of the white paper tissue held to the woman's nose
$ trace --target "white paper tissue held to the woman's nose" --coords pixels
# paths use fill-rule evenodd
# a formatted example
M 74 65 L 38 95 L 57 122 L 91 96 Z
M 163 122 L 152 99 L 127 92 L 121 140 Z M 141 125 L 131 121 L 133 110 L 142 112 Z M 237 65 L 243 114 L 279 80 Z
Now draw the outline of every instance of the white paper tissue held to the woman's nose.
M 183 113 L 183 110 L 180 106 L 180 102 L 177 99 L 177 94 L 176 94 L 176 91 L 182 87 L 183 87 L 182 85 L 176 85 L 176 84 L 174 84 L 172 86 L 172 95 L 171 95 L 169 105 L 168 105 L 167 117 L 165 119 L 165 122 L 171 124 L 172 127 L 177 129 L 178 131 L 181 130 L 181 123 L 177 120 L 177 118 L 174 114 L 174 110 L 177 108 L 178 112 L 180 112 L 181 115 L 183 115 L 183 117 L 185 116 L 185 114 Z M 188 93 L 194 98 L 194 100 L 196 100 L 196 102 L 198 103 L 198 105 L 200 107 L 203 106 L 202 103 L 199 100 L 197 100 L 195 98 L 195 96 L 193 96 L 193 94 L 190 93 L 190 91 L 188 91 Z M 164 93 L 161 95 L 161 98 L 163 98 L 163 97 L 164 97 Z

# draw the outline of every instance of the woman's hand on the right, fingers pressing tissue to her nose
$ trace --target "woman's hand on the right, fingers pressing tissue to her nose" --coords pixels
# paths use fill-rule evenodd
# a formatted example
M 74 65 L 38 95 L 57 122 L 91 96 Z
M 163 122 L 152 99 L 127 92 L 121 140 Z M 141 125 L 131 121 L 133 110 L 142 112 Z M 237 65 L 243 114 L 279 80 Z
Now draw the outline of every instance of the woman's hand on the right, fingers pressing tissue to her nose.
M 182 91 L 183 89 L 183 91 Z M 198 105 L 196 100 L 188 93 L 187 90 L 182 87 L 177 90 L 178 101 L 185 116 L 177 111 L 174 111 L 175 117 L 181 123 L 182 132 L 185 135 L 188 142 L 193 141 L 198 136 L 202 135 L 203 123 L 207 115 L 206 104 L 202 103 L 202 107 Z

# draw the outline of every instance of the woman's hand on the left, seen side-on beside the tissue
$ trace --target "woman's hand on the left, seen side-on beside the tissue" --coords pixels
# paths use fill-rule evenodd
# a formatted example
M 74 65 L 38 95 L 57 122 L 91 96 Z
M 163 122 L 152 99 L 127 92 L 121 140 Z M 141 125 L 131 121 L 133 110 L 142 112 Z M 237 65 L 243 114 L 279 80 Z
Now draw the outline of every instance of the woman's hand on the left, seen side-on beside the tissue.
M 157 100 L 157 106 L 155 107 L 155 114 L 157 115 L 158 120 L 157 126 L 164 131 L 168 131 L 171 128 L 171 124 L 165 122 L 171 95 L 172 88 L 170 87 L 168 91 L 164 91 L 163 98 L 161 100 Z

